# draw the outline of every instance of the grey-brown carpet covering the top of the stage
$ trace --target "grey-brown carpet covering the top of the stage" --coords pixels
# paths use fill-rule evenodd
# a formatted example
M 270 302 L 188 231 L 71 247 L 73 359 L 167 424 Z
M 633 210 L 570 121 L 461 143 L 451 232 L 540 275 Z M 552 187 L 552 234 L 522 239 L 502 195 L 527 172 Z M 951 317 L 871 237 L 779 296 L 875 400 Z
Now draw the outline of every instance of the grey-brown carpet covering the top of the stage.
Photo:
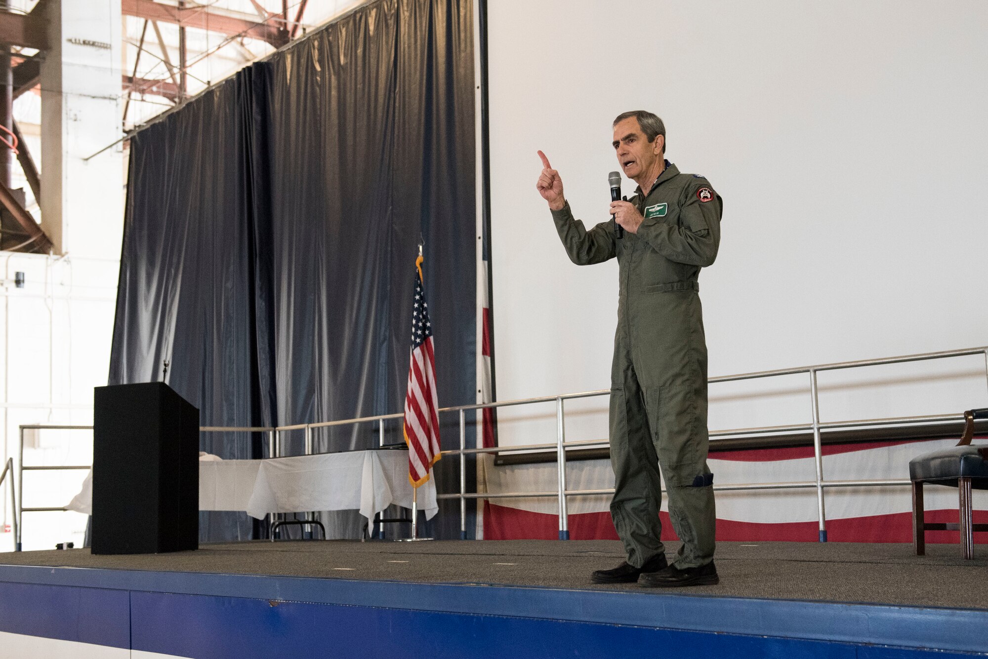
M 677 547 L 666 549 L 671 555 Z M 975 554 L 964 560 L 956 545 L 928 545 L 926 556 L 916 556 L 910 545 L 719 543 L 720 585 L 649 592 L 988 609 L 988 548 Z M 9 552 L 0 564 L 643 590 L 590 583 L 592 570 L 623 556 L 617 541 L 256 541 L 164 554 Z

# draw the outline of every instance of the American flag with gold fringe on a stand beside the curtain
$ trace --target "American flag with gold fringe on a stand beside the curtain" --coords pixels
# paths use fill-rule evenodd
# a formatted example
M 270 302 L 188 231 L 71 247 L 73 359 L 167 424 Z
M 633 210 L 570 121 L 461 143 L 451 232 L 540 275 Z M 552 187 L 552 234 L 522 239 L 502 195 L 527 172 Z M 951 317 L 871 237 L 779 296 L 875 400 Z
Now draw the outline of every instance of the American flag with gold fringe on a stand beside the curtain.
M 436 353 L 433 350 L 429 305 L 422 287 L 422 256 L 415 261 L 415 305 L 412 311 L 412 358 L 405 394 L 405 443 L 408 479 L 418 487 L 429 479 L 439 461 L 439 402 L 436 398 Z

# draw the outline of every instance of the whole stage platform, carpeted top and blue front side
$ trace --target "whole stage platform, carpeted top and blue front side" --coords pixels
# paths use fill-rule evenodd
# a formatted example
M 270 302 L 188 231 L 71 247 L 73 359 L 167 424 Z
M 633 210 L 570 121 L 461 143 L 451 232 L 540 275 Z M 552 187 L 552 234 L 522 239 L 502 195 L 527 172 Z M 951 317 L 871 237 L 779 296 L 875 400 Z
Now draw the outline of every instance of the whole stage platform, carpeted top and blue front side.
M 721 543 L 720 585 L 675 590 L 590 583 L 622 559 L 612 541 L 3 553 L 0 634 L 9 647 L 90 644 L 96 654 L 69 653 L 87 657 L 988 653 L 988 549 L 967 561 L 957 546 L 927 550 Z

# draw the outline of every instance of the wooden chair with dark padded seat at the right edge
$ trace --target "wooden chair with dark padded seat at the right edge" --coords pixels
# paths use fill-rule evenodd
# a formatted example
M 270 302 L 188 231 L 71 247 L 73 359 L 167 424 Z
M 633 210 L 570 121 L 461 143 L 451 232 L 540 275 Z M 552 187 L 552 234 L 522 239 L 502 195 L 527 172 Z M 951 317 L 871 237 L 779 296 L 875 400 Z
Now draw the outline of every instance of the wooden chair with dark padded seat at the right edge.
M 916 555 L 926 553 L 927 531 L 959 531 L 964 558 L 974 557 L 974 532 L 988 531 L 988 524 L 973 523 L 972 489 L 988 489 L 988 445 L 971 446 L 974 421 L 988 418 L 988 407 L 964 412 L 964 431 L 957 445 L 926 453 L 909 461 L 909 479 L 913 481 L 913 548 Z M 923 484 L 926 482 L 956 487 L 960 520 L 958 524 L 928 524 L 923 518 Z

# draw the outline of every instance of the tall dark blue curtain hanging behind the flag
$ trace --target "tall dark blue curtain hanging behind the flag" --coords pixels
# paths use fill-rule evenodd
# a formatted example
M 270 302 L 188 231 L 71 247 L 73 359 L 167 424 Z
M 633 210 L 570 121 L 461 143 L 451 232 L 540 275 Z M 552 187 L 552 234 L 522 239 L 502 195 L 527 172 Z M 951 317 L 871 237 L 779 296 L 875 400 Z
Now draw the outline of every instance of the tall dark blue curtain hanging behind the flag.
M 400 411 L 422 238 L 440 404 L 474 402 L 470 7 L 372 2 L 131 139 L 110 384 L 160 380 L 168 360 L 210 426 Z M 386 431 L 401 441 L 400 423 Z M 377 427 L 314 440 L 371 448 Z M 443 444 L 458 445 L 453 417 Z M 204 433 L 202 448 L 267 455 L 259 433 Z M 285 454 L 302 448 L 284 433 Z M 437 483 L 458 489 L 455 460 Z M 204 541 L 259 533 L 243 513 L 202 515 Z M 361 526 L 356 512 L 324 520 L 337 537 Z M 431 531 L 458 537 L 458 505 Z

